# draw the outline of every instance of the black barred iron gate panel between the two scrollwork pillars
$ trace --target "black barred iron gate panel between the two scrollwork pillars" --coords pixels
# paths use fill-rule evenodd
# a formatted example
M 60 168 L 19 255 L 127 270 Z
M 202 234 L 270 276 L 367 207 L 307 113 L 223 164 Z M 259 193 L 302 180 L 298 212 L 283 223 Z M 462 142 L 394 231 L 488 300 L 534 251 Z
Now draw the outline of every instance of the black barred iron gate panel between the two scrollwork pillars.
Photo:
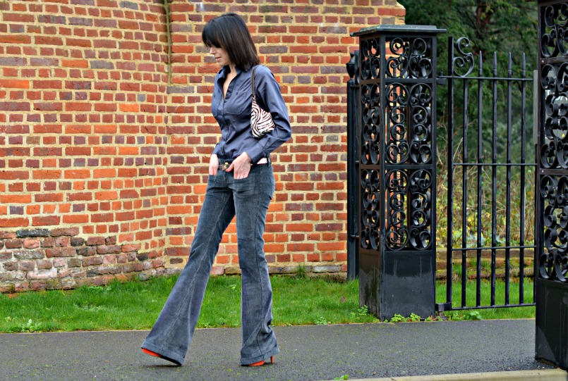
M 437 311 L 533 305 L 533 282 L 525 280 L 535 248 L 533 75 L 524 55 L 513 73 L 511 53 L 499 68 L 497 53 L 486 64 L 469 46 L 466 37 L 449 37 L 447 75 L 438 77 L 447 87 L 438 126 L 447 127 L 438 170 L 439 195 L 447 193 L 438 216 L 447 226 L 447 282 Z

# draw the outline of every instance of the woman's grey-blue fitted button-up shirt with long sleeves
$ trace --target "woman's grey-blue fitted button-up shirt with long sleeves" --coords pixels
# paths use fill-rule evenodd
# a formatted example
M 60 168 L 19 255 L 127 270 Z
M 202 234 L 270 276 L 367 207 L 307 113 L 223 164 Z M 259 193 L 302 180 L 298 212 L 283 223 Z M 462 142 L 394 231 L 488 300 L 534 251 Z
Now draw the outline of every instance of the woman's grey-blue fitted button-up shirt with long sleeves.
M 229 71 L 229 66 L 225 66 L 215 76 L 211 111 L 221 127 L 221 141 L 213 149 L 213 154 L 217 154 L 221 161 L 233 160 L 246 152 L 253 163 L 258 163 L 290 139 L 292 130 L 288 110 L 274 75 L 266 66 L 258 65 L 255 70 L 256 101 L 262 109 L 270 111 L 275 127 L 274 131 L 260 139 L 253 137 L 250 132 L 253 68 L 248 71 L 237 68 L 236 77 L 231 80 L 223 97 L 223 84 Z

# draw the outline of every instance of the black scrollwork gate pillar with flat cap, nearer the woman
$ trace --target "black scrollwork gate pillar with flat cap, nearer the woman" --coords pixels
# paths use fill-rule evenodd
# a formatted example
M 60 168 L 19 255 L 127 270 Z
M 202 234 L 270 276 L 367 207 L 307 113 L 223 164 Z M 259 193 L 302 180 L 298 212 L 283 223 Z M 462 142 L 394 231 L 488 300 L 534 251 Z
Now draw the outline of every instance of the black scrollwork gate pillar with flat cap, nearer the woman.
M 436 44 L 433 26 L 359 38 L 359 302 L 380 319 L 435 313 Z

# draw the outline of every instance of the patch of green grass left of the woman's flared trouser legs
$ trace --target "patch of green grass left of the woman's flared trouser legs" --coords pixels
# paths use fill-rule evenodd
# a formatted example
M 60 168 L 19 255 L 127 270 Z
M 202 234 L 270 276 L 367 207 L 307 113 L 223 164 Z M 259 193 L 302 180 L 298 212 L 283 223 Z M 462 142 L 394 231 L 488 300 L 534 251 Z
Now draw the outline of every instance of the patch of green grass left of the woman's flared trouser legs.
M 73 291 L 4 294 L 0 296 L 0 331 L 144 329 L 149 317 L 159 313 L 174 282 L 172 277 L 161 277 Z

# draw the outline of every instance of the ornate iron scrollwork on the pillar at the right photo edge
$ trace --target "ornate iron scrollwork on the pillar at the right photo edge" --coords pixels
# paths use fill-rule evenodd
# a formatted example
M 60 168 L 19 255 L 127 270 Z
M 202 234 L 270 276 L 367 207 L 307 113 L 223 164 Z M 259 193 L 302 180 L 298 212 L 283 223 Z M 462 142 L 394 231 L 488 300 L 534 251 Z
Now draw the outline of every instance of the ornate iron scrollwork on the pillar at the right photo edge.
M 546 6 L 540 14 L 541 104 L 539 188 L 543 213 L 543 246 L 538 258 L 538 275 L 543 279 L 568 282 L 568 4 Z M 547 58 L 555 58 L 548 61 Z M 548 170 L 556 170 L 548 173 Z

